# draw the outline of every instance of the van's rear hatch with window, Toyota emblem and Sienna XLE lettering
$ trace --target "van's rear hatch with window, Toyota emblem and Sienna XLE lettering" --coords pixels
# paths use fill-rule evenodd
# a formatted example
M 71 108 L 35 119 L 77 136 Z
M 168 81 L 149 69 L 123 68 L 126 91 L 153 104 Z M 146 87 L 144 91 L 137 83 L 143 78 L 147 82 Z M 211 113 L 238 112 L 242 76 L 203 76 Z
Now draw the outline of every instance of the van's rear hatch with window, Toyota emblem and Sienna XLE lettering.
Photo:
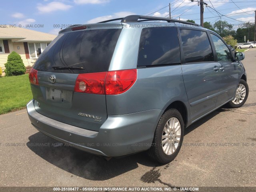
M 42 52 L 33 66 L 39 85 L 31 84 L 38 113 L 80 128 L 99 130 L 107 119 L 106 95 L 74 92 L 74 87 L 79 74 L 108 71 L 121 25 L 104 27 L 66 29 Z

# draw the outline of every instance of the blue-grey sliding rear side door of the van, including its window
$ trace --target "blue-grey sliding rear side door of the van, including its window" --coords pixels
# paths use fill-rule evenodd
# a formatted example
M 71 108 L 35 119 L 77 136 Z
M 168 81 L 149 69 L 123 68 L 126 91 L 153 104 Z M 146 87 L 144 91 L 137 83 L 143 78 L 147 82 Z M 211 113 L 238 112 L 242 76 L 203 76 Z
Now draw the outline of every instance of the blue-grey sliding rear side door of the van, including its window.
M 190 104 L 191 121 L 216 107 L 220 78 L 208 35 L 203 30 L 180 29 L 182 74 Z

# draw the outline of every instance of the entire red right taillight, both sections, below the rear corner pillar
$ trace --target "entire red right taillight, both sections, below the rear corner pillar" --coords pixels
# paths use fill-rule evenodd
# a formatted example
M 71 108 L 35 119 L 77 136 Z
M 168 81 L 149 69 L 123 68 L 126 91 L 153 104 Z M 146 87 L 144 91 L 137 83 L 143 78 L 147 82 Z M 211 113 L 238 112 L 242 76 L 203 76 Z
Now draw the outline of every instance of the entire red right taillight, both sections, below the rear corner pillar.
M 79 74 L 74 91 L 117 95 L 130 89 L 136 79 L 136 69 Z

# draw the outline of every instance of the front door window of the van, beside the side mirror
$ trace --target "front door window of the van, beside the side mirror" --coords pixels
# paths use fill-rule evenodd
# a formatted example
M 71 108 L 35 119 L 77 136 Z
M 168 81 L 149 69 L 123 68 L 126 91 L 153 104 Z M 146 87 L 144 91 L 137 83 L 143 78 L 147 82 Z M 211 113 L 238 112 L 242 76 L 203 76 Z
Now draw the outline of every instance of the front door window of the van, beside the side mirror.
M 218 61 L 232 61 L 232 55 L 226 44 L 214 34 L 211 34 L 211 37 L 216 49 Z

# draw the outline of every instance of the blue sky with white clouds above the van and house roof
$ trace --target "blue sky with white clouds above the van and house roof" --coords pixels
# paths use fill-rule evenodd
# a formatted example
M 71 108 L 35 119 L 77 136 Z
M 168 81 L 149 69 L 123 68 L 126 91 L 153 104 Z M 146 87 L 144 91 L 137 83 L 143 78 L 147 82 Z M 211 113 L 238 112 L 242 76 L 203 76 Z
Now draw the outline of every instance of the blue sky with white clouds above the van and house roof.
M 226 20 L 234 30 L 244 22 L 254 22 L 256 0 L 204 0 L 204 22 Z M 190 0 L 8 0 L 0 6 L 0 26 L 12 25 L 58 34 L 60 28 L 120 18 L 131 14 L 180 20 L 200 24 L 200 6 Z M 218 13 L 217 13 L 217 12 Z

